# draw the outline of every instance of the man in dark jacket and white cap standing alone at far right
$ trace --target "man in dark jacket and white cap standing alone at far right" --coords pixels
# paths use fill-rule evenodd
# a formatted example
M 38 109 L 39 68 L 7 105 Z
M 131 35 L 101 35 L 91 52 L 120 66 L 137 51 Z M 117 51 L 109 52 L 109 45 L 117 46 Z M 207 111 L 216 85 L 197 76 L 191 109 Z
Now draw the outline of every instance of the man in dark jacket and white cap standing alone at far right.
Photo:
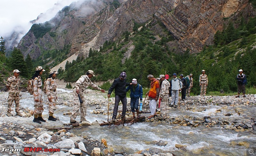
M 246 75 L 243 73 L 243 70 L 240 69 L 238 70 L 239 74 L 237 74 L 236 76 L 236 80 L 237 80 L 237 92 L 238 95 L 236 97 L 240 97 L 240 93 L 243 93 L 245 96 L 245 85 L 247 84 L 247 79 L 246 79 Z

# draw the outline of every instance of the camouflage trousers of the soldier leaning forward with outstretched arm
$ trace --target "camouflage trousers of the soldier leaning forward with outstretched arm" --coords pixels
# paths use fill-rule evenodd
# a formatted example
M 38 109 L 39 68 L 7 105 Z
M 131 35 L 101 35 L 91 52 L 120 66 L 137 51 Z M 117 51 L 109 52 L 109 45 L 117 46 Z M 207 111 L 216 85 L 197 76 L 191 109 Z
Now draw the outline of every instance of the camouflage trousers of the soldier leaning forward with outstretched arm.
M 70 120 L 75 120 L 77 117 L 77 114 L 79 112 L 80 109 L 80 115 L 81 115 L 81 119 L 80 122 L 85 121 L 85 116 L 86 116 L 86 108 L 87 105 L 85 103 L 85 98 L 84 98 L 84 93 L 79 91 L 80 97 L 83 101 L 83 103 L 80 103 L 78 95 L 76 94 L 76 89 L 74 89 L 73 91 L 73 97 L 74 97 L 74 109 L 72 111 L 72 114 L 70 116 Z

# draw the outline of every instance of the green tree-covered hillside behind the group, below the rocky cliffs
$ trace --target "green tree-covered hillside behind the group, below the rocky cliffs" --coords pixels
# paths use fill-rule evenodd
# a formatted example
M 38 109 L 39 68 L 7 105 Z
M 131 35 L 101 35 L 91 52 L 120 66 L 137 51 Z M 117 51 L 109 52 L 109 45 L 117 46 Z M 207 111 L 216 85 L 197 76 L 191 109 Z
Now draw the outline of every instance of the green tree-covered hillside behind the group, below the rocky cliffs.
M 223 31 L 214 35 L 214 45 L 205 47 L 200 53 L 176 53 L 170 47 L 173 37 L 163 26 L 161 38 L 156 34 L 157 21 L 135 25 L 132 34 L 125 32 L 116 42 L 106 41 L 100 51 L 90 49 L 89 57 L 66 64 L 60 69 L 59 78 L 75 82 L 86 70 L 94 70 L 96 81 L 115 79 L 124 70 L 127 81 L 138 79 L 143 87 L 149 87 L 148 74 L 193 74 L 193 91 L 199 93 L 199 75 L 206 70 L 208 91 L 236 92 L 236 75 L 239 69 L 247 75 L 248 86 L 256 86 L 256 18 L 248 22 L 240 20 L 241 25 L 234 27 L 232 22 Z M 146 26 L 145 26 L 146 25 Z M 139 28 L 139 29 L 138 29 Z

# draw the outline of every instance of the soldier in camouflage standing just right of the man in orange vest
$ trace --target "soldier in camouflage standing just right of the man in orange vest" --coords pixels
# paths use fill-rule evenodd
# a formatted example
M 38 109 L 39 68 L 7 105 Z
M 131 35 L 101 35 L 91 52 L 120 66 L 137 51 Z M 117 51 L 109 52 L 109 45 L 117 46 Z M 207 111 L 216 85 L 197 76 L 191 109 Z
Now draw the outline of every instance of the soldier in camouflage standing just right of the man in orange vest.
M 159 93 L 160 111 L 161 111 L 162 118 L 159 118 L 159 119 L 166 119 L 168 114 L 170 82 L 166 79 L 165 75 L 160 75 L 159 78 L 162 82 L 160 93 Z M 168 78 L 169 78 L 169 75 L 168 75 Z

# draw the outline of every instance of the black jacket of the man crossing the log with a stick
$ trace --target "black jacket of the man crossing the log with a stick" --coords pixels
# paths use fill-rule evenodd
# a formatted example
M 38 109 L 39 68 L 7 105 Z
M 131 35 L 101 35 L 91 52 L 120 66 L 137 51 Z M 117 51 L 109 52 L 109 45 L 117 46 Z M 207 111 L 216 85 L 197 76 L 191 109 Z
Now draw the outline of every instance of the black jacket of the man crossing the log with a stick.
M 116 78 L 112 86 L 108 89 L 108 94 L 111 94 L 115 89 L 115 95 L 126 95 L 126 86 L 129 86 L 130 83 L 126 82 L 126 79 L 121 80 L 120 77 Z

